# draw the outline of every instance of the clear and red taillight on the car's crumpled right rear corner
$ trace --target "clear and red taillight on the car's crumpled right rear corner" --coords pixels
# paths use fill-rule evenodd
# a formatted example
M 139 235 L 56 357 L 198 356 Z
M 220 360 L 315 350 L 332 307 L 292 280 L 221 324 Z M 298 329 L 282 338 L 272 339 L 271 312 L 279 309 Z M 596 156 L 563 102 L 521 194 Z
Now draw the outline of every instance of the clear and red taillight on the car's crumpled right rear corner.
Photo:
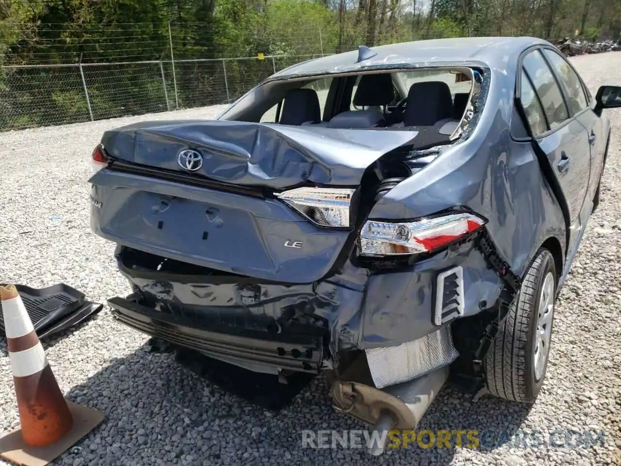
M 433 252 L 477 231 L 485 222 L 481 217 L 468 213 L 403 223 L 369 220 L 360 232 L 360 254 L 378 256 Z

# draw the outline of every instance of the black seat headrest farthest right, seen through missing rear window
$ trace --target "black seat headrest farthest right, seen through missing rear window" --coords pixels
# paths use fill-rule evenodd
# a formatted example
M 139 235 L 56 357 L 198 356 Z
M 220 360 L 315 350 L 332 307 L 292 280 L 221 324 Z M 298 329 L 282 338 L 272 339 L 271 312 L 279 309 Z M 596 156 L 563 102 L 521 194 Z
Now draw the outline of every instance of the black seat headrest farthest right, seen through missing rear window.
M 452 117 L 451 89 L 444 81 L 422 81 L 410 86 L 403 114 L 405 126 L 433 126 Z

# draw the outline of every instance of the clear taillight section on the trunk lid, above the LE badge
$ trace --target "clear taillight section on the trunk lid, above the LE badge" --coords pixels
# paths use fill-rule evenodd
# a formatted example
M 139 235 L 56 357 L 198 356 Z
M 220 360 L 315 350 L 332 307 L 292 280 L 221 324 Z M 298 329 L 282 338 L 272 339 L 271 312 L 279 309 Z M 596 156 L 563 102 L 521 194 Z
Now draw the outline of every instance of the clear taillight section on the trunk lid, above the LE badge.
M 341 188 L 296 188 L 276 196 L 317 225 L 348 227 L 353 193 Z

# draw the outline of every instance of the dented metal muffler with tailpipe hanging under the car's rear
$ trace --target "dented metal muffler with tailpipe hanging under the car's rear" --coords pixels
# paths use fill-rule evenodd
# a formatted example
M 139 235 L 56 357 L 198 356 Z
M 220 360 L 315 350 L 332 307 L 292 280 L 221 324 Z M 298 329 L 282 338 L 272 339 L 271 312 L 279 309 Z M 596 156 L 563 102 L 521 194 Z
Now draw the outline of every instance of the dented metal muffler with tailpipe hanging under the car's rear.
M 369 453 L 378 456 L 386 449 L 389 431 L 416 429 L 447 378 L 448 366 L 382 389 L 337 380 L 332 398 L 337 411 L 373 426 Z

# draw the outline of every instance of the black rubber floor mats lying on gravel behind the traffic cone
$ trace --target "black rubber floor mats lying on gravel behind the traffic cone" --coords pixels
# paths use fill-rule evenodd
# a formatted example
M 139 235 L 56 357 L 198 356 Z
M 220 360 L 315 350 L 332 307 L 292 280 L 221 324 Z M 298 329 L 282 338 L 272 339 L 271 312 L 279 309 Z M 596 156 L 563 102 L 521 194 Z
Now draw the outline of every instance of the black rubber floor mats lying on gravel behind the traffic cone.
M 64 283 L 47 288 L 15 286 L 40 338 L 79 323 L 102 307 L 102 304 L 85 301 L 84 293 Z M 5 334 L 2 303 L 0 303 L 0 336 Z

